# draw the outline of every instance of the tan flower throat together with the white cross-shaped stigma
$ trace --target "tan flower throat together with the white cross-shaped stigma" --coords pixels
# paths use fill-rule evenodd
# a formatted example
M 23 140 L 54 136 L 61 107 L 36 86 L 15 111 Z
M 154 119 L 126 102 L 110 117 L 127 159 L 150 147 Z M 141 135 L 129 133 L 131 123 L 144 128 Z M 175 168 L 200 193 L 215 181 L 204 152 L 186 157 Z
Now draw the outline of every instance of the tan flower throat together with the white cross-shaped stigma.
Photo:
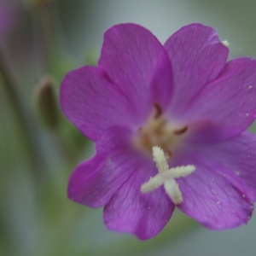
M 195 166 L 177 166 L 170 169 L 167 161 L 173 156 L 174 148 L 186 137 L 188 129 L 188 125 L 171 124 L 163 116 L 160 105 L 154 104 L 154 114 L 146 125 L 139 128 L 134 141 L 136 147 L 150 154 L 150 157 L 153 153 L 153 160 L 158 170 L 154 177 L 150 177 L 148 182 L 141 185 L 142 193 L 152 192 L 163 185 L 166 194 L 175 205 L 183 202 L 183 195 L 175 178 L 186 177 L 195 172 Z

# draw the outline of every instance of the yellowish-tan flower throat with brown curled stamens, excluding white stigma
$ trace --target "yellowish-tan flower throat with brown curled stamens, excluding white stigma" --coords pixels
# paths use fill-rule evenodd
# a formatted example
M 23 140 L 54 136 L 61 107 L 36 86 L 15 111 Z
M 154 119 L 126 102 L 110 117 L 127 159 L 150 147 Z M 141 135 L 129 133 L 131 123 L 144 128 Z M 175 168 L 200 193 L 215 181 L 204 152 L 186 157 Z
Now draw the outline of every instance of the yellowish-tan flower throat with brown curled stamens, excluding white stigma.
M 135 137 L 135 145 L 148 154 L 152 154 L 152 148 L 162 148 L 167 157 L 172 156 L 173 149 L 177 147 L 187 133 L 189 126 L 176 126 L 171 124 L 162 114 L 160 105 L 154 104 L 154 114 L 148 119 L 148 123 L 139 128 Z

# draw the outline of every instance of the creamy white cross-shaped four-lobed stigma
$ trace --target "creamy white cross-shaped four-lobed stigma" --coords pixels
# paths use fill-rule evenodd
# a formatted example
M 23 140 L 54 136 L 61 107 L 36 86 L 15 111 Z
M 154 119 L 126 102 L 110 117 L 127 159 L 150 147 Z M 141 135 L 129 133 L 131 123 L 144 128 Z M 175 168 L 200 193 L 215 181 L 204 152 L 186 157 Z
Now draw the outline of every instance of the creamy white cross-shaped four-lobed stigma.
M 158 174 L 154 177 L 150 177 L 147 183 L 143 183 L 141 186 L 142 193 L 148 193 L 158 189 L 161 185 L 164 185 L 166 194 L 170 196 L 175 205 L 183 202 L 183 195 L 178 188 L 178 183 L 175 181 L 177 177 L 186 177 L 192 172 L 195 172 L 195 166 L 177 166 L 169 169 L 166 155 L 160 147 L 154 146 L 153 160 L 156 163 Z

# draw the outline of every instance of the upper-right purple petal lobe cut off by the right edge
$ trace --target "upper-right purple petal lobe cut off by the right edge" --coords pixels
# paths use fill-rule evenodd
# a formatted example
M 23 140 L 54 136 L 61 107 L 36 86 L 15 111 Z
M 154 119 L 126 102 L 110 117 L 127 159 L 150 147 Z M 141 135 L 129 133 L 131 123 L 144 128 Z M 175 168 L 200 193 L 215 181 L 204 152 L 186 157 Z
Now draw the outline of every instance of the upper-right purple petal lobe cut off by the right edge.
M 255 118 L 256 60 L 250 58 L 229 61 L 218 78 L 201 90 L 183 115 L 183 119 L 206 119 L 212 123 L 206 133 L 200 132 L 200 137 L 206 140 L 237 136 Z

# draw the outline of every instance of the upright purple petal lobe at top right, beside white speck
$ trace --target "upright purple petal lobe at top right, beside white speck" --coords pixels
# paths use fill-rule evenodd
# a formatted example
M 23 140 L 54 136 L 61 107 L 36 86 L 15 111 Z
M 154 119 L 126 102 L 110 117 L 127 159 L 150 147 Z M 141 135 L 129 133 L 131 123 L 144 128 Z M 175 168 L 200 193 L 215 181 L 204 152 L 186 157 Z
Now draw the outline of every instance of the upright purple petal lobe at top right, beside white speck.
M 209 26 L 183 26 L 166 41 L 172 61 L 174 94 L 169 113 L 179 118 L 207 82 L 215 79 L 224 67 L 229 50 Z

